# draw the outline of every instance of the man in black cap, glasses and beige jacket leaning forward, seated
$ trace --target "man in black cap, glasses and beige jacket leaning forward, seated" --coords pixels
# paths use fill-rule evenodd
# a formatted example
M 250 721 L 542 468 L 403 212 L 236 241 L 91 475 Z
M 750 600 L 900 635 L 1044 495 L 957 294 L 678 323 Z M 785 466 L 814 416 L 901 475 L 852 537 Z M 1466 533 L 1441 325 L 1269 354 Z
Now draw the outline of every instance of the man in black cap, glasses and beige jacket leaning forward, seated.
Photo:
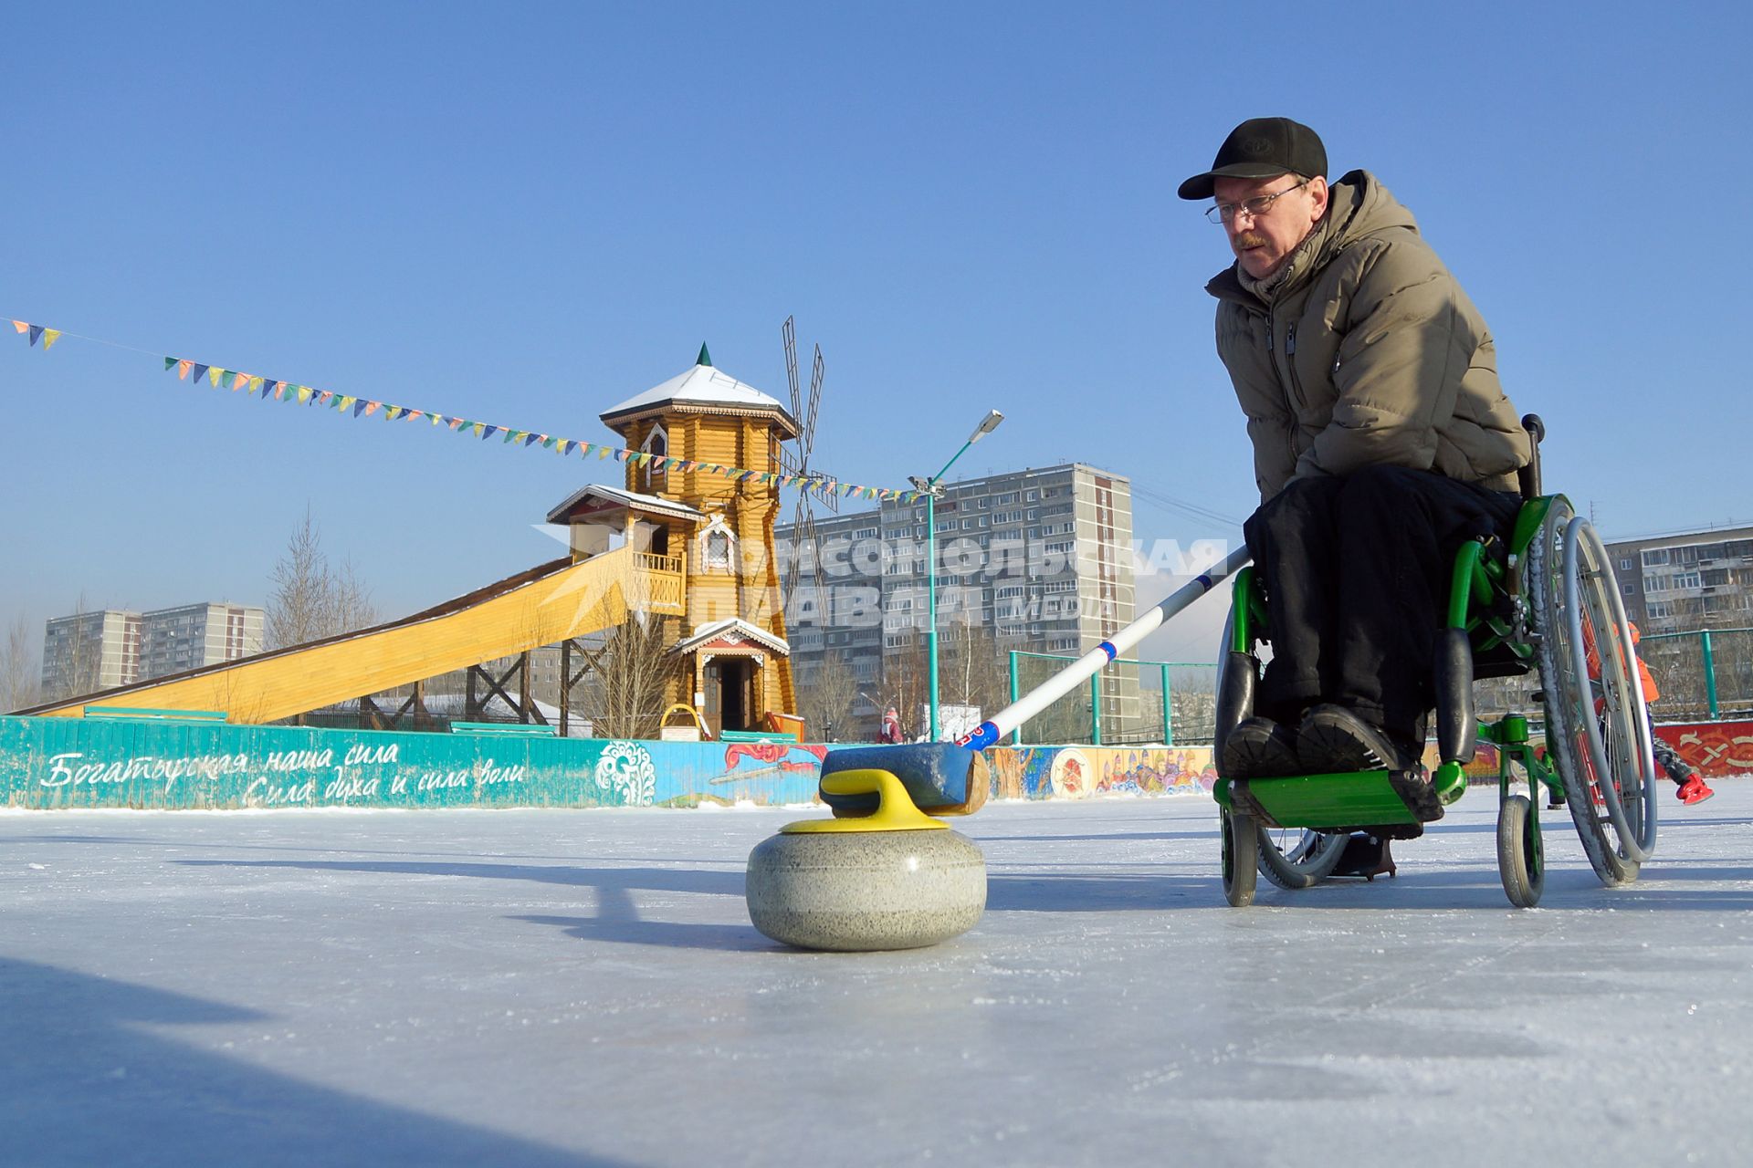
M 1236 263 L 1208 285 L 1253 441 L 1245 536 L 1273 658 L 1224 777 L 1418 767 L 1457 548 L 1508 541 L 1532 440 L 1492 334 L 1401 203 L 1320 137 L 1241 123 L 1180 186 Z

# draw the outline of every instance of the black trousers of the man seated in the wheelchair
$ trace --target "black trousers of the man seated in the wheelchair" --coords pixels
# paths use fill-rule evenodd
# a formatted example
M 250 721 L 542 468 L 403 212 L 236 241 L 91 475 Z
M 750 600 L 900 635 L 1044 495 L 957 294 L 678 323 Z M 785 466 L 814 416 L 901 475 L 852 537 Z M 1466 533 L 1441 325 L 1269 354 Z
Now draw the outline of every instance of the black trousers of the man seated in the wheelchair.
M 1404 466 L 1297 480 L 1260 504 L 1243 527 L 1273 644 L 1255 713 L 1294 727 L 1336 702 L 1422 741 L 1455 552 L 1508 543 L 1520 508 L 1515 492 Z

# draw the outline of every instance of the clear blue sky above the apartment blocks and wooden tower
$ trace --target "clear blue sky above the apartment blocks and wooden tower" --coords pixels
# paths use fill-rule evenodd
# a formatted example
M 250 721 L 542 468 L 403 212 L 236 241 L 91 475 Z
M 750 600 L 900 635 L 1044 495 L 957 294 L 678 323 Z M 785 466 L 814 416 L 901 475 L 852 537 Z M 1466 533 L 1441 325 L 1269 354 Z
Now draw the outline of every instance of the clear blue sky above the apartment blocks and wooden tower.
M 827 361 L 813 462 L 1257 503 L 1175 198 L 1287 114 L 1374 172 L 1608 538 L 1753 522 L 1741 5 L 4 5 L 0 620 L 261 602 L 309 506 L 386 615 L 549 559 L 605 464 L 191 389 L 182 355 L 587 441 Z M 1148 494 L 1143 494 L 1148 492 Z M 1166 503 L 1166 499 L 1169 503 Z

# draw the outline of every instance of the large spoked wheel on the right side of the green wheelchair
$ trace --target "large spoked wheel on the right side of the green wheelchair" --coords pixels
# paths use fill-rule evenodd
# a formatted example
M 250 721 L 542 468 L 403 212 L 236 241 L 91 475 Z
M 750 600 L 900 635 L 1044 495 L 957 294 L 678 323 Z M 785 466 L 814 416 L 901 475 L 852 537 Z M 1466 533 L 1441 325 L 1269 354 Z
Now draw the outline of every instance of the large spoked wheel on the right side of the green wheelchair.
M 1604 884 L 1637 879 L 1655 849 L 1655 756 L 1643 683 L 1600 538 L 1562 496 L 1527 552 L 1539 634 L 1546 749 L 1588 863 Z

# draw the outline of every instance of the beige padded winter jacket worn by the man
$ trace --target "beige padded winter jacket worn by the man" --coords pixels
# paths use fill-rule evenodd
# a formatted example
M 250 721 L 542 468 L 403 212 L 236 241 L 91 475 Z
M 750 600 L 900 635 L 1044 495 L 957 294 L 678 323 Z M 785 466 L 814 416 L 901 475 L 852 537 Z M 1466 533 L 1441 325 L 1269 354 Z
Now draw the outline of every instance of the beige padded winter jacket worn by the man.
M 1294 478 L 1378 462 L 1516 489 L 1529 438 L 1497 383 L 1492 334 L 1373 175 L 1334 182 L 1281 278 L 1246 284 L 1232 266 L 1206 291 L 1262 501 Z

